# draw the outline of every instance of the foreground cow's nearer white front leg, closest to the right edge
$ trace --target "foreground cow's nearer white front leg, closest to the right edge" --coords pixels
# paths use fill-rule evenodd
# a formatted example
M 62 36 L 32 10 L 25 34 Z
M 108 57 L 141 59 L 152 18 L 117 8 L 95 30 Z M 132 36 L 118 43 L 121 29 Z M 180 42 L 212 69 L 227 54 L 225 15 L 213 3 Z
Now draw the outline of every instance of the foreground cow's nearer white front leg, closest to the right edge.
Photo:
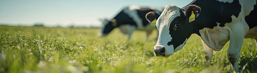
M 230 42 L 229 49 L 227 51 L 227 57 L 232 65 L 232 68 L 235 69 L 236 72 L 239 72 L 238 61 L 240 58 L 240 51 L 246 32 L 244 32 L 244 29 L 240 26 L 235 26 L 234 28 L 235 29 L 231 29 L 231 31 L 229 32 Z

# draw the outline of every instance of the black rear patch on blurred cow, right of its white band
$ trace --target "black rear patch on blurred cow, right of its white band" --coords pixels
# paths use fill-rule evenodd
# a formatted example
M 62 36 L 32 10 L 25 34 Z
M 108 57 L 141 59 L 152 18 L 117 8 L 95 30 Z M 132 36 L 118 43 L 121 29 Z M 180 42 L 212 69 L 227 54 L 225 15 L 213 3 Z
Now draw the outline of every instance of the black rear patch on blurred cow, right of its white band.
M 149 24 L 149 22 L 146 20 L 146 14 L 152 11 L 153 10 L 149 8 L 141 8 L 140 10 L 138 10 L 138 15 L 143 21 L 143 26 L 147 26 L 147 24 Z

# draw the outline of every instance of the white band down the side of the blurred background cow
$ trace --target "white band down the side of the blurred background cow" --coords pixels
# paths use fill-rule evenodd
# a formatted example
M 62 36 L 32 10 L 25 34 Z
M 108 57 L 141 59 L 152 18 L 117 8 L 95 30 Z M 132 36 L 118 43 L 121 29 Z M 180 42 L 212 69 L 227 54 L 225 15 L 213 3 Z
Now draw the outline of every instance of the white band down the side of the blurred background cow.
M 136 23 L 136 25 L 138 26 L 138 29 L 144 29 L 143 26 L 143 21 L 142 19 L 139 17 L 138 15 L 138 9 L 139 7 L 136 5 L 130 6 L 128 9 L 124 9 L 124 13 L 126 13 L 129 17 L 131 17 L 133 19 L 133 21 Z M 140 9 L 140 8 L 139 8 Z

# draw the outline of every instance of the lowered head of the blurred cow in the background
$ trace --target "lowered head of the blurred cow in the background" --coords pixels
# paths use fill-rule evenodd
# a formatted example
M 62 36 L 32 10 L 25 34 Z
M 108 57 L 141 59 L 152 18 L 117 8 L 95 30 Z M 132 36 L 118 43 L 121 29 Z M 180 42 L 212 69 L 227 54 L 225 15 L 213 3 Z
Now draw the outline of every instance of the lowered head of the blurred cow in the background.
M 115 27 L 117 27 L 117 21 L 116 21 L 116 19 L 111 19 L 110 21 L 104 19 L 104 20 L 103 20 L 103 24 L 102 24 L 102 28 L 101 28 L 101 33 L 99 34 L 99 36 L 107 35 L 107 34 L 110 33 L 111 30 L 113 30 Z

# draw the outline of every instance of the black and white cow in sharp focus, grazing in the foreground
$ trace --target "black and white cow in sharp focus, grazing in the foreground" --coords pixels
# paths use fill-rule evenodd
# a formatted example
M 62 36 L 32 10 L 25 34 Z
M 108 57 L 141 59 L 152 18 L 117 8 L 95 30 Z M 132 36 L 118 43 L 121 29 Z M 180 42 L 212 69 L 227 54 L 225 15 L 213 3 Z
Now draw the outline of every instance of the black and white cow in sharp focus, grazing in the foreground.
M 157 19 L 159 37 L 156 56 L 169 57 L 186 44 L 191 34 L 202 39 L 205 58 L 211 63 L 213 50 L 219 51 L 230 40 L 227 57 L 232 68 L 238 61 L 244 38 L 257 40 L 256 0 L 194 0 L 183 8 L 166 5 L 161 15 L 149 12 L 149 22 Z M 256 42 L 257 43 L 257 42 Z

